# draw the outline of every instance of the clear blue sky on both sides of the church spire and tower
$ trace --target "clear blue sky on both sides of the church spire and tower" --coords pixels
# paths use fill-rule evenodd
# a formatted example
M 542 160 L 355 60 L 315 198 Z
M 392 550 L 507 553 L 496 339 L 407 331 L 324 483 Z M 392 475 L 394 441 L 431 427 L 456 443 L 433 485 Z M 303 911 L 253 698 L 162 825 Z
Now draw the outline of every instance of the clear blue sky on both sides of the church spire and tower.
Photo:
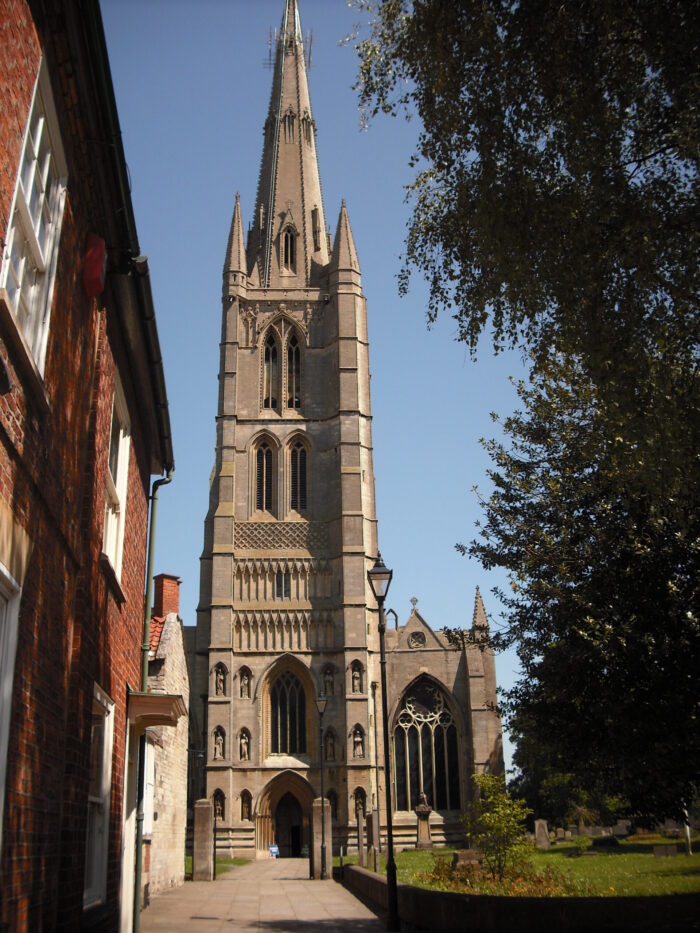
M 141 250 L 149 257 L 173 426 L 176 471 L 160 492 L 156 572 L 182 579 L 181 615 L 195 623 L 199 557 L 214 462 L 221 273 L 236 192 L 244 227 L 254 200 L 271 71 L 268 36 L 282 0 L 101 0 Z M 478 362 L 456 342 L 449 310 L 426 326 L 426 289 L 397 273 L 409 206 L 415 123 L 380 118 L 360 130 L 357 58 L 340 47 L 358 14 L 345 0 L 300 0 L 313 35 L 309 83 L 327 222 L 345 198 L 368 304 L 379 545 L 394 577 L 387 599 L 405 622 L 410 599 L 433 628 L 471 625 L 481 588 L 505 583 L 461 557 L 474 536 L 476 494 L 489 489 L 479 438 L 490 412 L 515 403 L 515 354 Z M 511 653 L 496 661 L 514 678 Z M 506 760 L 510 747 L 506 743 Z

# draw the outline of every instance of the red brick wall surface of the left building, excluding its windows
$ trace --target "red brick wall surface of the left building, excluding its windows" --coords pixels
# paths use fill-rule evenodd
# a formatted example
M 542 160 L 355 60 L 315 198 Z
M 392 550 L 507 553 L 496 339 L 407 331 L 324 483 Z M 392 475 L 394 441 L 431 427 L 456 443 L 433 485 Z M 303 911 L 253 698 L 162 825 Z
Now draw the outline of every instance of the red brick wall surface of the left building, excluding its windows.
M 69 6 L 55 4 L 54 9 Z M 103 232 L 104 217 L 116 208 L 99 192 L 97 168 L 93 173 L 86 162 L 89 133 L 76 110 L 75 66 L 65 47 L 61 15 L 52 15 L 46 40 L 69 175 L 43 380 L 50 409 L 37 401 L 0 328 L 0 357 L 13 383 L 9 393 L 0 395 L 0 498 L 33 542 L 20 603 L 0 854 L 0 927 L 5 924 L 13 933 L 85 926 L 95 682 L 115 703 L 107 906 L 95 927 L 116 930 L 127 684 L 140 683 L 149 457 L 116 302 L 109 285 L 99 303 L 89 301 L 82 288 L 85 237 L 90 230 Z M 56 64 L 57 56 L 65 65 Z M 0 0 L 3 241 L 39 57 L 27 4 Z M 117 369 L 131 422 L 120 585 L 100 557 Z

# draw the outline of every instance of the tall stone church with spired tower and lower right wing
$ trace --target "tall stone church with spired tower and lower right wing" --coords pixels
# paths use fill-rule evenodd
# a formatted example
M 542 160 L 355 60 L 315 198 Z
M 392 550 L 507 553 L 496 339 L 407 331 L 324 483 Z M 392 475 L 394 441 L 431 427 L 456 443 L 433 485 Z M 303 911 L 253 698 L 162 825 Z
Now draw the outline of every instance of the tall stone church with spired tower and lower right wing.
M 253 857 L 307 853 L 322 760 L 334 850 L 356 844 L 358 814 L 384 828 L 387 779 L 367 304 L 344 202 L 327 232 L 298 3 L 283 2 L 254 212 L 246 242 L 236 196 L 223 270 L 191 693 L 195 794 L 218 850 Z M 471 775 L 503 768 L 494 659 L 475 641 L 453 648 L 415 605 L 387 631 L 399 845 L 422 794 L 433 839 L 456 838 Z

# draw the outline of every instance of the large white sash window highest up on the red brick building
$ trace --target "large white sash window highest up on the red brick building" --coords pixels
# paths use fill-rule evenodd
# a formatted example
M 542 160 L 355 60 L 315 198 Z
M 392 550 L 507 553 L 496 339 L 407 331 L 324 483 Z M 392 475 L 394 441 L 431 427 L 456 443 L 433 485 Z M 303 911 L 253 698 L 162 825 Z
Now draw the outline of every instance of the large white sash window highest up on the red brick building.
M 40 375 L 46 361 L 67 179 L 51 82 L 42 60 L 0 267 L 0 290 Z

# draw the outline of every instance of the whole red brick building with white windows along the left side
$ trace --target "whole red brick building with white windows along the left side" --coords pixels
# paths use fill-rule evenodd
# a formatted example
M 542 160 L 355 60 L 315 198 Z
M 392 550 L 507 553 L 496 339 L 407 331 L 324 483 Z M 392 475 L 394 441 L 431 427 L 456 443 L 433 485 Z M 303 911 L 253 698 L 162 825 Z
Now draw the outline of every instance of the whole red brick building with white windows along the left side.
M 95 2 L 0 0 L 0 237 L 0 928 L 128 929 L 137 736 L 182 704 L 139 692 L 173 452 Z

